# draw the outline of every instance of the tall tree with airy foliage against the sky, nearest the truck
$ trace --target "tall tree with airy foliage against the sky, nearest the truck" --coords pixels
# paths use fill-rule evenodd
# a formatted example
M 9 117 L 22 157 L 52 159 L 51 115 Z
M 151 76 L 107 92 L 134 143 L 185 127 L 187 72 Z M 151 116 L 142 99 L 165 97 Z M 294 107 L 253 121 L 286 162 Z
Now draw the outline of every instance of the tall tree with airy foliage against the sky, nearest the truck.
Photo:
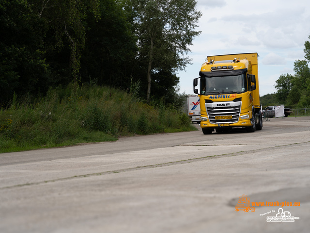
M 162 70 L 174 74 L 190 62 L 184 57 L 200 32 L 195 31 L 201 12 L 196 0 L 132 0 L 133 22 L 139 38 L 139 58 L 147 67 L 147 101 L 151 94 L 151 75 Z M 170 67 L 170 69 L 167 68 Z

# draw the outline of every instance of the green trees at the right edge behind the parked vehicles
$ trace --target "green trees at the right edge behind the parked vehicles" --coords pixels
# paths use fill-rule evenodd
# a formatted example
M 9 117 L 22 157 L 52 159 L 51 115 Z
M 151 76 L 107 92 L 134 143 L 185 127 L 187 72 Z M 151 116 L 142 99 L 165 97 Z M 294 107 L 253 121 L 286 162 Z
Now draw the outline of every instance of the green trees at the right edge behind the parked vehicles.
M 309 36 L 310 38 L 310 36 Z M 310 107 L 310 42 L 305 42 L 305 60 L 294 62 L 294 75 L 282 74 L 276 81 L 276 99 L 294 108 Z

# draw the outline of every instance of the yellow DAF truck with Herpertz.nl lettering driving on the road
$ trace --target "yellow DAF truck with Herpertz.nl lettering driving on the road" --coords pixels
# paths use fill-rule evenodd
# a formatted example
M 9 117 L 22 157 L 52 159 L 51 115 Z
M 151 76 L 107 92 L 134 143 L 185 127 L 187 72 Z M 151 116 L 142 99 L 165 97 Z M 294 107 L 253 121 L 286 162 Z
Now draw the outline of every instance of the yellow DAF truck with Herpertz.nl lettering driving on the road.
M 235 127 L 262 130 L 257 53 L 208 56 L 194 93 L 199 95 L 204 134 Z

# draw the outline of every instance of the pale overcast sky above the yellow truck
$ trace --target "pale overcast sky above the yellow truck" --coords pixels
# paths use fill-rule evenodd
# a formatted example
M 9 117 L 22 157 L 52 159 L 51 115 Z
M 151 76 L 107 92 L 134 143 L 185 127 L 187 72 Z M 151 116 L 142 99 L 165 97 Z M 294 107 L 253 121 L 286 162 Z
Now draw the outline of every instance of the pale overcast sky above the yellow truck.
M 294 74 L 310 40 L 310 0 L 198 0 L 202 12 L 188 56 L 193 65 L 178 73 L 180 92 L 193 94 L 207 56 L 257 52 L 260 96 L 275 93 L 281 74 Z

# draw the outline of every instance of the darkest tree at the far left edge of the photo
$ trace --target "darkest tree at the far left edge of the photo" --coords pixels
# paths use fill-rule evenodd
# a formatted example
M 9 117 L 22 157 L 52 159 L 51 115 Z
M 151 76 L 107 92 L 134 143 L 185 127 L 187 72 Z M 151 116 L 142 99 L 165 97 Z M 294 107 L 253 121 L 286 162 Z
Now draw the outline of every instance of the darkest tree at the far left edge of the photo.
M 0 1 L 0 99 L 46 86 L 42 20 L 26 0 Z

